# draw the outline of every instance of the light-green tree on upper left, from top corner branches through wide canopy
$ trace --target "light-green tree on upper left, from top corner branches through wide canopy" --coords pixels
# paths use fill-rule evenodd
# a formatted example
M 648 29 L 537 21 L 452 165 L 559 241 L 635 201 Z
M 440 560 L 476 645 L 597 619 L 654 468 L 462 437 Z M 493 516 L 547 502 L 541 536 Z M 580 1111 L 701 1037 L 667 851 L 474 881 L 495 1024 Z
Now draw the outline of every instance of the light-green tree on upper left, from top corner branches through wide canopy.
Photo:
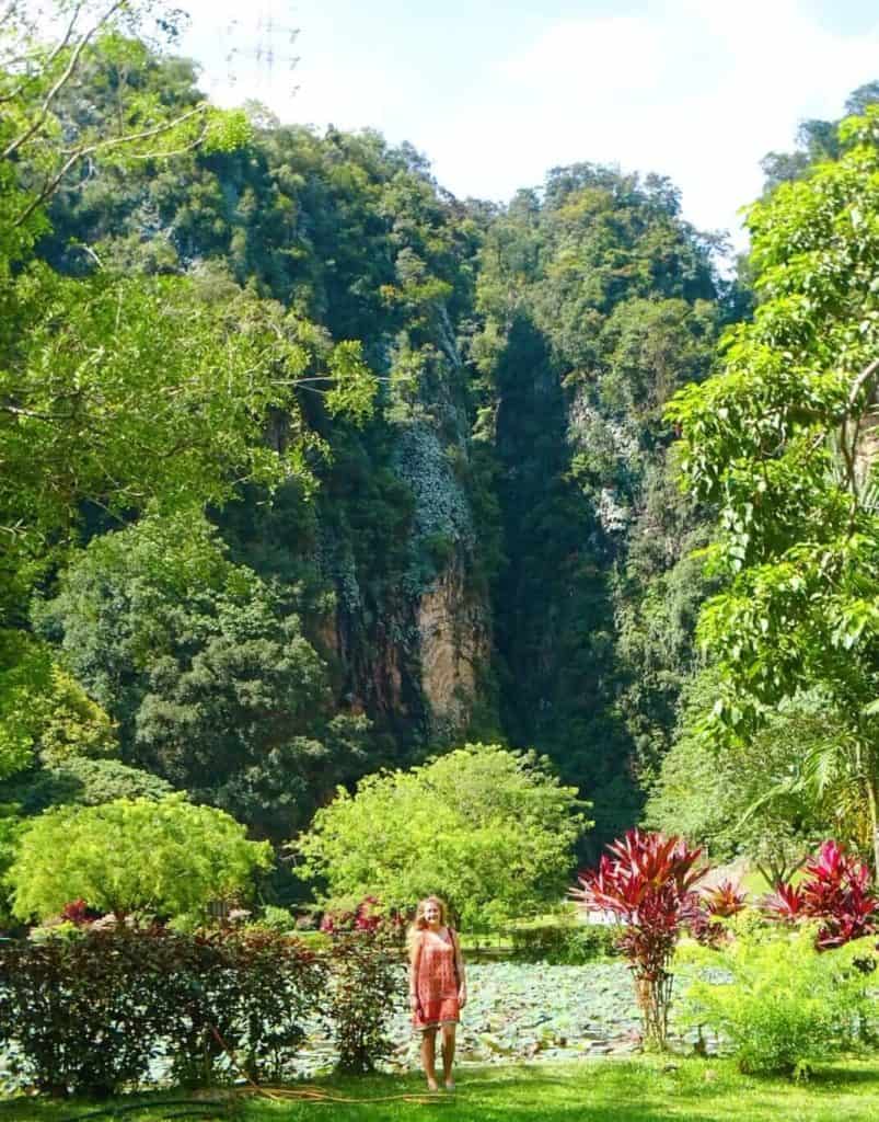
M 173 31 L 176 12 L 90 0 L 58 0 L 55 9 L 55 43 L 39 39 L 18 2 L 0 37 L 7 611 L 47 555 L 76 543 L 84 503 L 115 515 L 151 503 L 174 509 L 221 503 L 242 479 L 271 487 L 290 475 L 311 478 L 306 457 L 321 441 L 296 387 L 325 390 L 331 412 L 350 407 L 361 417 L 374 389 L 358 342 L 327 344 L 302 318 L 222 283 L 216 270 L 126 276 L 89 247 L 100 267 L 72 278 L 34 259 L 49 229 L 46 204 L 83 160 L 160 167 L 251 136 L 240 112 L 166 102 L 139 81 L 150 56 L 137 36 L 152 22 Z M 84 112 L 95 88 L 104 111 Z M 276 440 L 268 442 L 271 420 Z

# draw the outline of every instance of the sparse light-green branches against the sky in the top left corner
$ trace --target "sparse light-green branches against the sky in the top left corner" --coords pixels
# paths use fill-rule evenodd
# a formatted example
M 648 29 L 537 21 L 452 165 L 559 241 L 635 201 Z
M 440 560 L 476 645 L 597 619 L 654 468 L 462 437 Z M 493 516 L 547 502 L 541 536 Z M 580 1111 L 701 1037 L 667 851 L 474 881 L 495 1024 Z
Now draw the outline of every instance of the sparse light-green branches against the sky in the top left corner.
M 250 135 L 241 111 L 198 99 L 177 112 L 155 91 L 126 80 L 142 65 L 145 39 L 174 39 L 181 17 L 163 0 L 54 0 L 48 11 L 22 0 L 7 3 L 0 24 L 0 275 L 46 231 L 45 204 L 85 160 L 130 164 L 204 145 L 228 149 Z M 83 102 L 102 64 L 112 71 L 114 113 L 95 126 Z M 65 113 L 71 104 L 78 108 L 73 121 Z

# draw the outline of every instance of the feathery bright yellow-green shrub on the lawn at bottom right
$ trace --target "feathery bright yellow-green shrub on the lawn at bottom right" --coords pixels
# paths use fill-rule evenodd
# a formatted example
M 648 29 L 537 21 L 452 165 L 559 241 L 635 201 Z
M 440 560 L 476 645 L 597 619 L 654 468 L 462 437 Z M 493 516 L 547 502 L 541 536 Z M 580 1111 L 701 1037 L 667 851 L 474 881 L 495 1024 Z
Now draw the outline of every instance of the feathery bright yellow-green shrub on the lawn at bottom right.
M 870 940 L 826 954 L 813 944 L 807 928 L 751 927 L 719 950 L 683 946 L 678 962 L 701 967 L 684 995 L 683 1023 L 712 1029 L 749 1073 L 802 1076 L 853 1047 L 867 1024 L 864 969 L 876 950 Z

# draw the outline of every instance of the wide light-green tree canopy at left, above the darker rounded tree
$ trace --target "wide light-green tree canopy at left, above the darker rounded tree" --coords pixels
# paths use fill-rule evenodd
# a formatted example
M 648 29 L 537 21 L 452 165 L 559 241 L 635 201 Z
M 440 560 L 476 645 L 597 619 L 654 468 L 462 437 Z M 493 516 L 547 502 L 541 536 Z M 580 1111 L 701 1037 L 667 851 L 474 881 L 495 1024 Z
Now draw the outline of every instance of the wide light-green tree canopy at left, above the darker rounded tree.
M 12 288 L 21 314 L 0 369 L 0 513 L 24 559 L 75 543 L 85 502 L 117 516 L 175 511 L 221 504 L 237 480 L 311 478 L 306 453 L 321 442 L 297 405 L 299 380 L 325 385 L 334 408 L 369 408 L 355 343 L 322 365 L 307 325 L 215 274 L 71 279 L 34 265 Z M 274 411 L 287 421 L 271 447 Z

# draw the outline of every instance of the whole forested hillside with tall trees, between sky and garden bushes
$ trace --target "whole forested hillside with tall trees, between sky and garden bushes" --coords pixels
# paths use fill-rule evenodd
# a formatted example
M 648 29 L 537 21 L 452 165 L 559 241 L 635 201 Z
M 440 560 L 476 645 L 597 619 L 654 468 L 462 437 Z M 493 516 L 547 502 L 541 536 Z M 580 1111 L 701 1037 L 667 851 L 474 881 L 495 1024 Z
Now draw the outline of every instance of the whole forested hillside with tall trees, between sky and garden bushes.
M 311 899 L 337 788 L 464 745 L 593 822 L 561 884 L 636 824 L 875 862 L 879 83 L 731 263 L 655 172 L 220 111 L 157 10 L 0 38 L 0 873 L 181 797 Z

